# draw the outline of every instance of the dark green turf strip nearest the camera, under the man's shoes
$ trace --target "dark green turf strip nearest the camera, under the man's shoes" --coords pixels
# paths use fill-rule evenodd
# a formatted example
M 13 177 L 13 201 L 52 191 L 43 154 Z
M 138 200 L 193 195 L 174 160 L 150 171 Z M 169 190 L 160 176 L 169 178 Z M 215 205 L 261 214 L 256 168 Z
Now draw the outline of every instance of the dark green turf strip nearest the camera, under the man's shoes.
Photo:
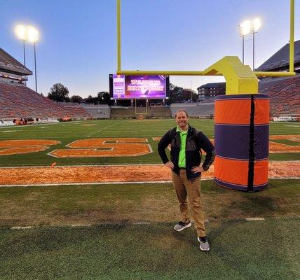
M 299 279 L 299 218 L 0 230 L 0 279 Z

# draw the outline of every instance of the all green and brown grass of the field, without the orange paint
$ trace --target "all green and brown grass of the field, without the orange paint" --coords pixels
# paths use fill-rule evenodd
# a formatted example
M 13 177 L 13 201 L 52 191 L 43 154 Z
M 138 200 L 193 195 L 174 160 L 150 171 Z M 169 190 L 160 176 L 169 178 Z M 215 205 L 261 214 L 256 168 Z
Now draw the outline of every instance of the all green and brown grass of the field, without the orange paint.
M 212 120 L 190 123 L 213 137 Z M 152 137 L 174 125 L 174 120 L 93 120 L 4 127 L 0 141 L 62 143 L 40 153 L 1 156 L 0 167 L 161 163 Z M 299 126 L 271 123 L 270 132 L 299 134 Z M 121 135 L 148 139 L 154 153 L 132 158 L 47 155 L 76 139 Z M 270 159 L 300 160 L 299 153 L 271 154 Z M 300 279 L 299 186 L 299 179 L 270 180 L 267 190 L 241 193 L 202 181 L 212 246 L 208 253 L 200 252 L 193 228 L 172 230 L 179 207 L 170 183 L 0 188 L 0 279 Z M 266 221 L 246 222 L 249 217 Z M 10 229 L 22 225 L 35 228 Z

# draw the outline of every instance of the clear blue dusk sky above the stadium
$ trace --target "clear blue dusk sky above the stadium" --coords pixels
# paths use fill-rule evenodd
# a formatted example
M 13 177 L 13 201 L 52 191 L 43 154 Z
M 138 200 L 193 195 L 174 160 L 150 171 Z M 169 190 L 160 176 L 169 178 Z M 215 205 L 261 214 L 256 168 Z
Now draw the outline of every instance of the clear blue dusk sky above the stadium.
M 289 41 L 289 0 L 123 0 L 123 70 L 204 70 L 226 55 L 242 59 L 238 25 L 261 18 L 255 36 L 255 66 Z M 0 47 L 23 62 L 22 42 L 14 34 L 20 23 L 41 34 L 36 45 L 38 92 L 54 83 L 69 96 L 109 90 L 116 72 L 116 1 L 0 1 Z M 295 41 L 300 39 L 300 0 L 295 1 Z M 252 36 L 245 42 L 245 64 L 252 66 Z M 27 67 L 34 52 L 26 47 Z M 181 87 L 223 81 L 222 77 L 171 76 Z M 27 86 L 34 89 L 34 75 Z

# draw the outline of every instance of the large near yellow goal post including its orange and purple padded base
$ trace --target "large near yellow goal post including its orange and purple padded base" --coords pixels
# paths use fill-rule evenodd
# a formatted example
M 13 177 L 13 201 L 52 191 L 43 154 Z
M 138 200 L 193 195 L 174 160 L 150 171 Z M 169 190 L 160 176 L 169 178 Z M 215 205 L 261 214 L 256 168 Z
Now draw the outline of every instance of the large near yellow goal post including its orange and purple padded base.
M 117 1 L 119 75 L 224 76 L 226 94 L 214 104 L 214 182 L 247 192 L 268 186 L 269 97 L 258 94 L 258 77 L 292 77 L 294 72 L 294 0 L 289 13 L 289 71 L 254 71 L 237 56 L 225 56 L 204 71 L 121 70 L 121 0 Z M 137 112 L 136 100 L 135 110 Z M 140 114 L 142 115 L 142 114 Z M 229 145 L 230 144 L 230 145 Z M 235 147 L 238 147 L 238 153 Z

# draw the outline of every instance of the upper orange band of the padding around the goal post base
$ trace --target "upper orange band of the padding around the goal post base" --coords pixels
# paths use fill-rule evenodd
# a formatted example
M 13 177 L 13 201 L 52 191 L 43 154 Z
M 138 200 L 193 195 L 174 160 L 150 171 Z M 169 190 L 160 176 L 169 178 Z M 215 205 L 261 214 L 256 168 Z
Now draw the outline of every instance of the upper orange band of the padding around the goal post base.
M 268 123 L 269 100 L 254 99 L 254 125 Z M 243 108 L 243 110 L 240 110 Z M 249 125 L 251 99 L 219 99 L 214 102 L 214 123 Z

